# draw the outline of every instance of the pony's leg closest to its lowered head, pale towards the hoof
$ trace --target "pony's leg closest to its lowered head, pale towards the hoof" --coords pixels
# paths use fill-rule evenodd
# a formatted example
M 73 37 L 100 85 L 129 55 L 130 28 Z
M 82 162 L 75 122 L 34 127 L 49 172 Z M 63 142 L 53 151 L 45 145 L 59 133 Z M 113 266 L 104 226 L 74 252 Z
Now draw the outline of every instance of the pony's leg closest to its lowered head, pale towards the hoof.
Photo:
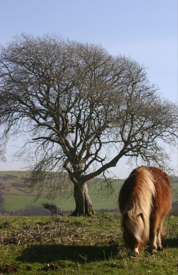
M 157 252 L 157 229 L 158 229 L 158 218 L 155 217 L 150 221 L 150 252 Z

